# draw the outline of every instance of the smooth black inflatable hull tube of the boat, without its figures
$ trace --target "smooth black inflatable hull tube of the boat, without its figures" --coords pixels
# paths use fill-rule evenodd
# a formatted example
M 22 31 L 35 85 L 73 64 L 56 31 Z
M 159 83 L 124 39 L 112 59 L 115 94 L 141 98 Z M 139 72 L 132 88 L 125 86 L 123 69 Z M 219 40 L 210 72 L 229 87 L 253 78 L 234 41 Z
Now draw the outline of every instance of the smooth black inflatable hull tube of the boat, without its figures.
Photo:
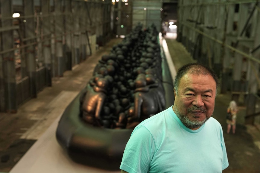
M 166 109 L 174 103 L 173 80 L 161 45 L 160 50 Z M 85 123 L 79 108 L 80 97 L 86 90 L 84 88 L 64 111 L 56 139 L 73 161 L 105 170 L 118 170 L 133 128 L 100 128 Z

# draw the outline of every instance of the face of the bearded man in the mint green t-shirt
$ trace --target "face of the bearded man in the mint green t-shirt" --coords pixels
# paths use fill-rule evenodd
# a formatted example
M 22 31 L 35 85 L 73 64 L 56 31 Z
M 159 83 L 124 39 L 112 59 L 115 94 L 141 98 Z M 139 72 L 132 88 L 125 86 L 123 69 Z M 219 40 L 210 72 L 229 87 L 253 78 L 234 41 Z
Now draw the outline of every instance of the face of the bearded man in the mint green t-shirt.
M 198 129 L 212 116 L 216 97 L 212 76 L 185 74 L 180 79 L 178 94 L 175 90 L 174 94 L 173 110 L 188 128 Z

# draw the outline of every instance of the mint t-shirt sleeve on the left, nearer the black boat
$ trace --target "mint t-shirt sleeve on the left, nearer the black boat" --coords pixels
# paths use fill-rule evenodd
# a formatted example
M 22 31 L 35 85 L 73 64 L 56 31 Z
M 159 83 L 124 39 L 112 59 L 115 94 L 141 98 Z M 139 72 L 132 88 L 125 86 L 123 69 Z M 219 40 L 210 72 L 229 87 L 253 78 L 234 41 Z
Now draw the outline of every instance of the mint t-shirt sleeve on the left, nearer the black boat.
M 129 173 L 148 172 L 155 151 L 152 134 L 143 125 L 139 125 L 126 144 L 120 169 Z

